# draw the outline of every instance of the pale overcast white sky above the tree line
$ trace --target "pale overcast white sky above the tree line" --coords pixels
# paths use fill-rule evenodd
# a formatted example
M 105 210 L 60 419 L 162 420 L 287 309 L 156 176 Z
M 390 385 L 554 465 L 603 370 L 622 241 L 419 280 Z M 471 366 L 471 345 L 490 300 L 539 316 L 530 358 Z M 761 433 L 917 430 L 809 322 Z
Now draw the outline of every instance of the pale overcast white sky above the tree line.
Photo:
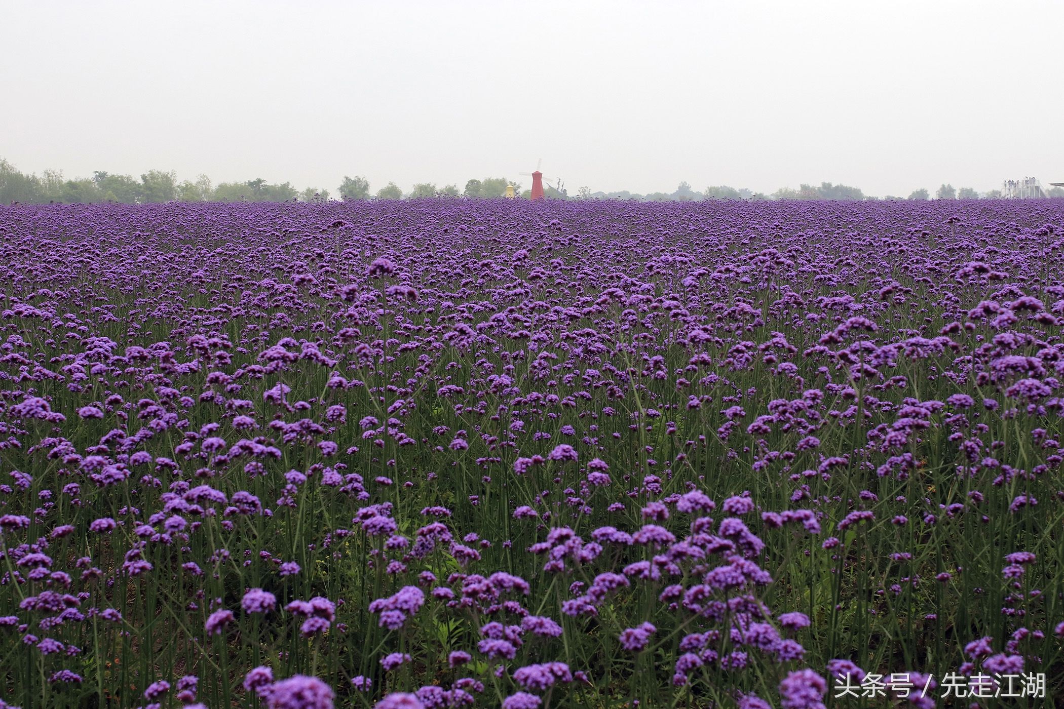
M 335 190 L 1064 181 L 1064 2 L 0 0 L 0 157 Z M 529 178 L 523 178 L 528 186 Z

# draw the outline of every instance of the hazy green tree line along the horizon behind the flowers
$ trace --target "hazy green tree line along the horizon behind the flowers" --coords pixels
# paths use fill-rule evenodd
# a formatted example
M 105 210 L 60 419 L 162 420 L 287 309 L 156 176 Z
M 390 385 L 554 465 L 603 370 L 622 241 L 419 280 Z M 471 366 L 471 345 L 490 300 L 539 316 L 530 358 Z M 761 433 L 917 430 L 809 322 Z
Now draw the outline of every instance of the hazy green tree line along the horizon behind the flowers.
M 434 183 L 415 184 L 410 191 L 404 192 L 394 182 L 373 192 L 366 178 L 355 175 L 344 176 L 336 189 L 342 200 L 398 200 L 421 197 L 466 197 L 471 199 L 493 199 L 503 197 L 506 186 L 513 184 L 515 195 L 529 199 L 531 191 L 522 189 L 520 183 L 511 183 L 506 178 L 483 178 L 469 180 L 463 189 L 456 185 L 436 187 Z M 1064 197 L 1064 189 L 1050 188 L 1049 197 Z M 819 186 L 799 185 L 797 189 L 783 187 L 771 195 L 754 192 L 746 188 L 734 188 L 728 185 L 711 185 L 699 192 L 692 189 L 686 182 L 681 182 L 672 192 L 650 192 L 639 195 L 627 190 L 614 192 L 593 192 L 587 187 L 581 187 L 576 196 L 570 196 L 564 186 L 544 185 L 544 195 L 548 199 L 621 199 L 646 202 L 696 200 L 875 200 L 879 198 L 865 196 L 858 187 L 834 185 L 821 182 Z M 92 178 L 66 180 L 57 170 L 45 170 L 41 174 L 19 172 L 11 163 L 0 158 L 0 204 L 11 202 L 67 204 L 92 204 L 96 202 L 122 202 L 126 204 L 143 204 L 150 202 L 315 202 L 329 199 L 328 189 L 306 187 L 297 189 L 292 183 L 267 183 L 262 178 L 246 182 L 223 182 L 214 185 L 205 174 L 199 175 L 195 182 L 185 180 L 178 182 L 172 171 L 148 170 L 135 179 L 128 174 L 111 174 L 96 171 Z M 971 187 L 955 189 L 944 184 L 935 192 L 940 200 L 972 200 L 994 199 L 1001 197 L 1000 190 L 991 190 L 980 195 Z M 920 188 L 913 190 L 908 198 L 886 196 L 886 200 L 927 200 L 930 192 Z

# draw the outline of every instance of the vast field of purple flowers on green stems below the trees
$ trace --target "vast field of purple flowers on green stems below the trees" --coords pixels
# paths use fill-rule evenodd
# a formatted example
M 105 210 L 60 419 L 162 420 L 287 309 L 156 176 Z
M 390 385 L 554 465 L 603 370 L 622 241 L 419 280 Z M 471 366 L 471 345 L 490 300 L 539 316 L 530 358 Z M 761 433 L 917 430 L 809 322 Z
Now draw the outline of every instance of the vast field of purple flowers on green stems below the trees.
M 1064 200 L 0 206 L 0 707 L 1064 692 Z

